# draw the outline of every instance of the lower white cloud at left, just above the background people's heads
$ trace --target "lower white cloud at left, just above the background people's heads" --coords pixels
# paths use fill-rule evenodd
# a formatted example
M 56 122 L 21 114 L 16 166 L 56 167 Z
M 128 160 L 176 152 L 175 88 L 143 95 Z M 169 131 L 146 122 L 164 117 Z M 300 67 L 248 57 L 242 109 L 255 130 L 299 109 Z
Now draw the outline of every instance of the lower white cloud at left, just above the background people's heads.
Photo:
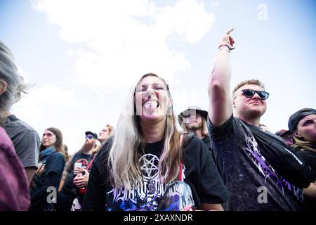
M 57 127 L 70 147 L 70 153 L 74 153 L 81 144 L 78 137 L 83 139 L 83 132 L 87 129 L 84 127 L 86 124 L 79 123 L 88 121 L 82 116 L 84 108 L 87 108 L 86 105 L 77 100 L 74 91 L 44 85 L 38 89 L 31 87 L 29 94 L 13 105 L 11 113 L 34 127 L 39 135 L 48 127 Z

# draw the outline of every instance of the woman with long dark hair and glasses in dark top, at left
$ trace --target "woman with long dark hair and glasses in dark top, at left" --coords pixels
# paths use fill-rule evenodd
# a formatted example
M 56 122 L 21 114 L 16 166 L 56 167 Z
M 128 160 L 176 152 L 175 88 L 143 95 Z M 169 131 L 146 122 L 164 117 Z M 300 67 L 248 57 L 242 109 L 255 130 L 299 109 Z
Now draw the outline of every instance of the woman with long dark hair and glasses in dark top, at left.
M 62 133 L 55 127 L 44 131 L 39 147 L 39 168 L 31 183 L 32 211 L 52 211 L 56 199 L 48 202 L 48 193 L 52 188 L 57 193 L 62 169 L 65 167 L 65 153 L 62 144 Z

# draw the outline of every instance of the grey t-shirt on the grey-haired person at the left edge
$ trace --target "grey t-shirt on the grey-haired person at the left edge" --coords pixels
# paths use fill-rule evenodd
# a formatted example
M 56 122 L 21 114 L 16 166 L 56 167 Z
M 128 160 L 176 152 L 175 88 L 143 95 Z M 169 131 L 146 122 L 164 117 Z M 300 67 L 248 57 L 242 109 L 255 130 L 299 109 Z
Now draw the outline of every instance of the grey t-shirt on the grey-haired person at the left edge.
M 37 167 L 39 161 L 39 134 L 15 115 L 6 117 L 4 129 L 13 142 L 23 167 Z

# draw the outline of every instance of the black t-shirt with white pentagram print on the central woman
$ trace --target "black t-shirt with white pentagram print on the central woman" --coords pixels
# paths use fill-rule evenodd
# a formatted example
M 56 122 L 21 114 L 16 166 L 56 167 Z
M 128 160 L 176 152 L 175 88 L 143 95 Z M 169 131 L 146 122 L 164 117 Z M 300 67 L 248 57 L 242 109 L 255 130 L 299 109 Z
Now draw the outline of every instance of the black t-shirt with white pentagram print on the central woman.
M 104 155 L 107 155 L 111 146 L 112 139 L 105 143 L 93 162 L 84 210 L 157 210 L 166 189 L 166 184 L 160 182 L 158 172 L 164 142 L 145 144 L 139 161 L 143 183 L 133 191 L 117 190 L 108 181 L 109 171 Z M 220 179 L 209 150 L 196 136 L 183 148 L 183 172 L 184 181 L 189 184 L 197 207 L 200 203 L 223 203 L 228 199 L 228 191 Z

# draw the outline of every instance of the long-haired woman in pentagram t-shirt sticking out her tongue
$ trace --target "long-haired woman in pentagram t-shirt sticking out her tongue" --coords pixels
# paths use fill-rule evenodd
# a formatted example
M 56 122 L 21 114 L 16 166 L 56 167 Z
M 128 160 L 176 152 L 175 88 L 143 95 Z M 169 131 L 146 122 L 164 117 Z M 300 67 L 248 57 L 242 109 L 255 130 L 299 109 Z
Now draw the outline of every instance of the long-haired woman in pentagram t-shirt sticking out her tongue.
M 227 198 L 207 147 L 176 129 L 168 84 L 141 77 L 93 162 L 84 210 L 223 210 Z

